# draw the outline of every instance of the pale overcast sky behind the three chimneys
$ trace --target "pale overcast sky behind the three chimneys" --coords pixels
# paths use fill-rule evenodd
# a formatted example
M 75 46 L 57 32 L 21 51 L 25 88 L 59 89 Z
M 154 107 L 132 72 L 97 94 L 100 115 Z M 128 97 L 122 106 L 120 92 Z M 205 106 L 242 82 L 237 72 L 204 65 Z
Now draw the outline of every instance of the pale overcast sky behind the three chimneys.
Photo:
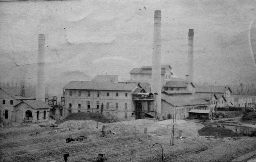
M 76 74 L 130 78 L 152 65 L 154 10 L 162 12 L 162 64 L 187 74 L 188 29 L 194 29 L 195 82 L 256 82 L 249 28 L 254 0 L 113 0 L 0 2 L 1 81 L 34 80 L 37 37 L 46 35 L 47 80 Z M 71 73 L 70 73 L 71 72 Z M 81 78 L 82 77 L 82 78 Z

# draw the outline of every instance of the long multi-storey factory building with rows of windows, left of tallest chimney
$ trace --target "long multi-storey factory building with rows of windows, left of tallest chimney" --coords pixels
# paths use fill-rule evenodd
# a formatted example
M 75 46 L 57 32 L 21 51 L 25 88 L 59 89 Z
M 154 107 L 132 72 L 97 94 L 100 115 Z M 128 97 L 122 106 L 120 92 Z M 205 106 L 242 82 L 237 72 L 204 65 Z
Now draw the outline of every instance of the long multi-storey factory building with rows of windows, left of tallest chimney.
M 150 102 L 155 100 L 154 94 L 144 92 L 138 83 L 118 82 L 118 76 L 101 75 L 92 81 L 71 81 L 64 87 L 64 115 L 83 111 L 121 120 L 143 118 L 145 114 L 140 112 L 142 109 L 151 111 Z

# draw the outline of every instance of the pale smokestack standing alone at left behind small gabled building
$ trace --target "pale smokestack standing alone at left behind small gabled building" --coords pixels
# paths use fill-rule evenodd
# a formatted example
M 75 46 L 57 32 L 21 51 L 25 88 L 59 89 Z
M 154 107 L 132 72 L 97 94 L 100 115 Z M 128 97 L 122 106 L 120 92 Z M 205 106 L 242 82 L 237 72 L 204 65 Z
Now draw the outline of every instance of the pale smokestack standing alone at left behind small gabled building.
M 37 85 L 36 85 L 36 100 L 45 102 L 45 36 L 38 34 L 38 56 L 37 56 Z

